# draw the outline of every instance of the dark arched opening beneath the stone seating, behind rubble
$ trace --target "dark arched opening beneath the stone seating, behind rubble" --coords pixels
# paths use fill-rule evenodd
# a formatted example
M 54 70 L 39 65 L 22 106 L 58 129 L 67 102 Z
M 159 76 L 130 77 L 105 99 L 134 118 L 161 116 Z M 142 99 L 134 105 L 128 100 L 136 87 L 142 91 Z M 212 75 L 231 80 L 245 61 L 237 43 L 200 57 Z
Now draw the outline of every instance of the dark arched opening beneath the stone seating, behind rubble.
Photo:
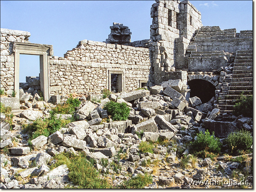
M 199 97 L 202 103 L 207 103 L 212 97 L 215 97 L 215 86 L 202 79 L 193 79 L 188 81 L 190 88 L 190 97 Z

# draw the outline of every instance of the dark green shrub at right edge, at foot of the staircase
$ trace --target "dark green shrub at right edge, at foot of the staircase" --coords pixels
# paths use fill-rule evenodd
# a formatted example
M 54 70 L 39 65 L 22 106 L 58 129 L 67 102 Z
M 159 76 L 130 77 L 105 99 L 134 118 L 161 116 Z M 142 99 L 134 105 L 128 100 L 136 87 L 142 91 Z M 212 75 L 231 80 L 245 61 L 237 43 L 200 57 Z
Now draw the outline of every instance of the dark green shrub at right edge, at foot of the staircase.
M 252 117 L 252 106 L 252 95 L 245 96 L 241 94 L 234 105 L 234 114 L 236 116 Z

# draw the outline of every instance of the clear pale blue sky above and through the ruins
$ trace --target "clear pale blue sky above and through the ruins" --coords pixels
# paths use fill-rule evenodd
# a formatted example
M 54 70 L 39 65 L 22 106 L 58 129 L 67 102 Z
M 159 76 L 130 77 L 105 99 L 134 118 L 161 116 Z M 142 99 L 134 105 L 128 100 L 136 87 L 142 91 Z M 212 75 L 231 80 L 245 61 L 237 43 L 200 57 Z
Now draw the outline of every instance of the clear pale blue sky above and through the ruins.
M 204 26 L 252 30 L 252 1 L 190 1 Z M 1 28 L 28 31 L 31 43 L 52 44 L 63 57 L 83 39 L 105 41 L 113 22 L 131 29 L 131 41 L 150 38 L 155 1 L 1 1 Z M 31 69 L 31 70 L 28 70 Z M 20 82 L 38 76 L 39 56 L 21 55 Z

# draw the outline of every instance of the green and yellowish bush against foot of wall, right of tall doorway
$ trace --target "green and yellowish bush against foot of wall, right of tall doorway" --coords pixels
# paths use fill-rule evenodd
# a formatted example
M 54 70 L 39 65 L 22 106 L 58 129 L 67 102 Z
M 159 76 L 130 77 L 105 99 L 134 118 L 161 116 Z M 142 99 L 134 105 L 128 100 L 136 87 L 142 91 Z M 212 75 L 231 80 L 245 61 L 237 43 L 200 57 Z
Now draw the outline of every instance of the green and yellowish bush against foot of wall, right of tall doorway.
M 55 108 L 52 109 L 54 113 L 57 114 L 73 114 L 75 108 L 79 107 L 81 101 L 72 97 L 72 94 L 68 96 L 68 100 L 63 104 L 58 104 Z

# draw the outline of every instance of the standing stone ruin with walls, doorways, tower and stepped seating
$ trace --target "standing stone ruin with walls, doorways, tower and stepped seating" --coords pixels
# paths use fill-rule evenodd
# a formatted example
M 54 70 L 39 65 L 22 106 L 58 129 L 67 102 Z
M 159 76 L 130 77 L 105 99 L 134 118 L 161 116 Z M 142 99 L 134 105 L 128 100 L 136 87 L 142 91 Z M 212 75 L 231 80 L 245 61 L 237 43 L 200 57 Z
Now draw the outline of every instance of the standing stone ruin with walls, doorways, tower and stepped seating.
M 197 96 L 220 109 L 217 120 L 228 120 L 237 95 L 252 93 L 252 30 L 203 26 L 189 1 L 156 0 L 150 16 L 150 39 L 131 42 L 130 29 L 113 23 L 106 42 L 82 40 L 64 57 L 53 56 L 52 45 L 30 43 L 29 32 L 1 28 L 1 89 L 40 90 L 50 102 L 53 95 L 130 92 L 180 80 L 188 107 Z M 40 55 L 37 84 L 19 82 L 20 54 Z

